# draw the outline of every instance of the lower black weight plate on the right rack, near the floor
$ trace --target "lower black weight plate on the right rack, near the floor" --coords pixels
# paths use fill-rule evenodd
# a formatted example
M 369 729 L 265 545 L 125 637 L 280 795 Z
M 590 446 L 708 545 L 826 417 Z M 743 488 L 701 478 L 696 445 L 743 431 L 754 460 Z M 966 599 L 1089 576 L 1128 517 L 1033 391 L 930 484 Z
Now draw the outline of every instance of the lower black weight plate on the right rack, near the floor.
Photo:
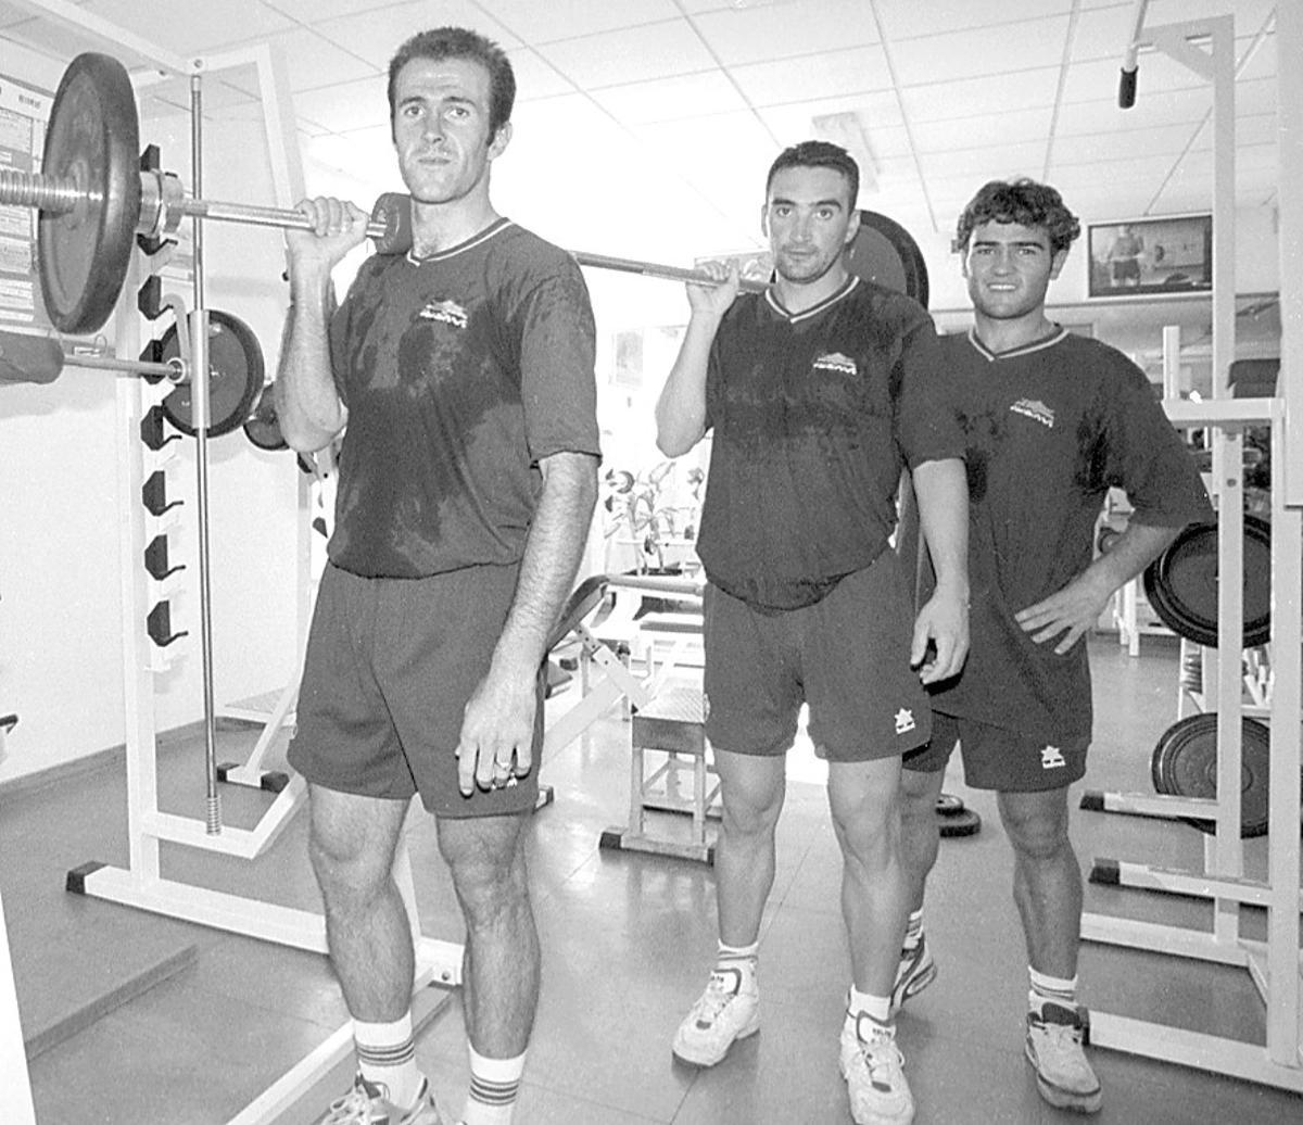
M 1270 738 L 1252 718 L 1240 725 L 1240 836 L 1263 836 L 1270 812 Z M 1149 763 L 1156 793 L 1169 796 L 1217 796 L 1217 713 L 1186 716 L 1162 733 Z M 1182 817 L 1200 832 L 1213 832 L 1210 820 Z

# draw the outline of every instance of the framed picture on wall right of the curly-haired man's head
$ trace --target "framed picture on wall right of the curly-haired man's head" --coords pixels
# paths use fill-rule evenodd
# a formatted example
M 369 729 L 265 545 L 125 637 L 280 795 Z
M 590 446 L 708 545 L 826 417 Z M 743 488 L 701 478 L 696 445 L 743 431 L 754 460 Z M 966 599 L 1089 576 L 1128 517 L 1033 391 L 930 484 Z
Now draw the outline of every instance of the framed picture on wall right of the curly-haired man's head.
M 1212 215 L 1165 215 L 1085 228 L 1091 297 L 1162 297 L 1213 287 Z

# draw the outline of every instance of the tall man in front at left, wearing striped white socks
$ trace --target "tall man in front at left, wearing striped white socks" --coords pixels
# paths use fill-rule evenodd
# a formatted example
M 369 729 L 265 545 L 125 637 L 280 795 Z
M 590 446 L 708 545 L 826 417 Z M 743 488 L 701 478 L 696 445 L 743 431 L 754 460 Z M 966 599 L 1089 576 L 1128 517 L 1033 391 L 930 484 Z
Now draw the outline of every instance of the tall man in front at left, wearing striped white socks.
M 515 96 L 503 51 L 421 33 L 394 56 L 388 95 L 413 248 L 367 259 L 327 317 L 331 269 L 369 216 L 301 203 L 313 229 L 287 235 L 276 381 L 293 448 L 344 431 L 289 750 L 358 1064 L 327 1120 L 444 1120 L 416 1065 L 412 928 L 391 873 L 420 794 L 466 923 L 460 1118 L 498 1125 L 538 1000 L 523 828 L 546 640 L 597 495 L 593 314 L 573 258 L 490 201 Z

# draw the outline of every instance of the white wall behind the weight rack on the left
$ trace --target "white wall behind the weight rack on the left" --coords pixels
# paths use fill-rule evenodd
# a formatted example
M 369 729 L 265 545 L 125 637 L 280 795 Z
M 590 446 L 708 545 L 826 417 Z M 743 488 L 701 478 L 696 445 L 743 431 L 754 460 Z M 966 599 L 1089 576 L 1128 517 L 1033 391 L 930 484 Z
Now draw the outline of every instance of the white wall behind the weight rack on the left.
M 4 44 L 4 69 L 52 89 L 61 68 Z M 165 168 L 189 184 L 189 124 L 142 123 Z M 267 202 L 274 194 L 261 123 L 210 126 L 205 192 Z M 275 369 L 285 305 L 281 236 L 208 224 L 206 304 L 240 317 Z M 193 293 L 184 291 L 188 305 Z M 125 300 L 134 302 L 130 292 Z M 112 325 L 112 321 L 109 322 Z M 146 335 L 150 331 L 146 329 Z M 0 385 L 0 713 L 16 712 L 0 782 L 124 740 L 122 594 L 119 527 L 137 495 L 122 495 L 113 381 L 68 369 L 48 386 Z M 132 378 L 132 377 L 121 377 Z M 168 494 L 185 499 L 169 554 L 186 570 L 172 627 L 185 656 L 155 677 L 160 730 L 202 718 L 194 442 L 168 468 Z M 292 454 L 255 450 L 242 431 L 210 442 L 214 684 L 218 707 L 275 691 L 296 657 L 296 536 L 300 471 Z M 141 562 L 139 564 L 143 566 Z M 197 763 L 197 768 L 202 765 Z

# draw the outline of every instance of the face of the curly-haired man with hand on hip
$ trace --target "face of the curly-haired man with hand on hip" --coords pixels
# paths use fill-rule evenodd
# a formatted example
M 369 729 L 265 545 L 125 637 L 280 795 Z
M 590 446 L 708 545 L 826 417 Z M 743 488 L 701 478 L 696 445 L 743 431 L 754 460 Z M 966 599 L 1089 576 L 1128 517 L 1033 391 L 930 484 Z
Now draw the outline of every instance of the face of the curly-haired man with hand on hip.
M 963 262 L 973 308 L 994 321 L 1036 313 L 1066 259 L 1067 250 L 1050 252 L 1050 237 L 1041 227 L 979 224 Z

